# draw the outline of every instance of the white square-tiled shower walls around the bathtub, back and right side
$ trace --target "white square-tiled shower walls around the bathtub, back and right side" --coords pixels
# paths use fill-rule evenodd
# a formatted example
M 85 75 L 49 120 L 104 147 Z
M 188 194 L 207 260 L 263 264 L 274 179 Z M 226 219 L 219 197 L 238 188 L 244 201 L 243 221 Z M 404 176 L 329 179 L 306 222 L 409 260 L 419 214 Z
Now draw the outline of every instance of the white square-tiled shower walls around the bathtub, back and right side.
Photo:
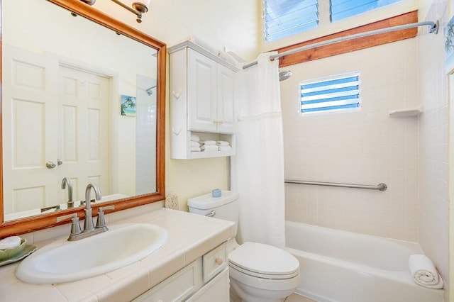
M 420 20 L 438 19 L 442 31 L 447 1 L 420 5 Z M 449 107 L 444 41 L 443 34 L 419 31 L 414 39 L 289 68 L 293 76 L 281 82 L 286 178 L 384 182 L 389 189 L 323 187 L 327 195 L 322 197 L 316 193 L 321 187 L 287 184 L 294 189 L 286 196 L 287 219 L 419 242 L 446 281 Z M 300 80 L 350 71 L 360 71 L 361 111 L 299 116 L 293 94 Z M 419 118 L 389 117 L 390 110 L 420 104 Z M 294 186 L 306 190 L 304 198 Z

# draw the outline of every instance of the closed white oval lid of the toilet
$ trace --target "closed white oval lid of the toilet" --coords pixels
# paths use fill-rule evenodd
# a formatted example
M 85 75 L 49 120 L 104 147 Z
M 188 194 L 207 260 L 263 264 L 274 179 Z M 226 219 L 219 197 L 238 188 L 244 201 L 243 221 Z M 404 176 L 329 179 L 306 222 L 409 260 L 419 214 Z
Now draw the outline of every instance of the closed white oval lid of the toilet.
M 289 252 L 258 242 L 243 243 L 228 254 L 228 261 L 240 270 L 276 277 L 299 272 L 299 262 Z

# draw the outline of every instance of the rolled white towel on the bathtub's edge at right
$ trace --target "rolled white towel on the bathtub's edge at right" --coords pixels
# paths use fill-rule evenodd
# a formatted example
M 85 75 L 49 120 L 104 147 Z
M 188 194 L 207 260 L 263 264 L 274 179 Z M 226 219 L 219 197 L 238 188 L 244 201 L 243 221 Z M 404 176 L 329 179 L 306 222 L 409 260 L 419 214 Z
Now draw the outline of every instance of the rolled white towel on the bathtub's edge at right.
M 409 267 L 416 284 L 429 289 L 443 289 L 443 279 L 441 279 L 431 259 L 428 259 L 425 255 L 411 255 Z

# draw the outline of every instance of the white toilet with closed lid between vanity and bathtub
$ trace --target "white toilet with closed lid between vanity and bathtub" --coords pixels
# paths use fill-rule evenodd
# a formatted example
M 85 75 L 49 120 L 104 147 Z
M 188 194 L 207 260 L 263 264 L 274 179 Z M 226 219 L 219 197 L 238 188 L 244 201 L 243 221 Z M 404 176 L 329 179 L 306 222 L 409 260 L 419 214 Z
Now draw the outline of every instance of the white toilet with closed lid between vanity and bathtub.
M 230 220 L 238 225 L 238 193 L 222 191 L 189 198 L 189 212 Z M 236 228 L 236 227 L 235 227 Z M 236 229 L 235 229 L 236 230 Z M 279 302 L 299 286 L 299 262 L 288 252 L 258 242 L 229 242 L 231 301 Z

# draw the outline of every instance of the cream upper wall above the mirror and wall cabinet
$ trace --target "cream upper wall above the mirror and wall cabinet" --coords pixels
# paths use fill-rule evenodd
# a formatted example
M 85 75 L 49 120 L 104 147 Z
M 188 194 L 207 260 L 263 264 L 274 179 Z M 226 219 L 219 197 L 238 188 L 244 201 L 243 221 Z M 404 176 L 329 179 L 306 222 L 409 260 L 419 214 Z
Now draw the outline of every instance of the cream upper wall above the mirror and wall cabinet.
M 142 23 L 136 23 L 133 13 L 111 1 L 96 1 L 94 7 L 162 40 L 167 46 L 196 36 L 219 49 L 227 47 L 247 61 L 255 60 L 258 55 L 260 0 L 151 0 Z

